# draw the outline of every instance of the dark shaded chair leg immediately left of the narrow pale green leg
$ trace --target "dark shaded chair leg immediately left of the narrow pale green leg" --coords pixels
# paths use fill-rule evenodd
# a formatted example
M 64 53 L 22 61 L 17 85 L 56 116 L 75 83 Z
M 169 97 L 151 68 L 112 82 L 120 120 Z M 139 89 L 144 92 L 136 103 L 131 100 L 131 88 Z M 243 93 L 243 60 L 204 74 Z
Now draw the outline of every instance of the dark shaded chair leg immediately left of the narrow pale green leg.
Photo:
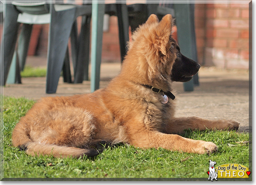
M 82 17 L 81 33 L 79 36 L 78 59 L 74 68 L 74 83 L 88 80 L 89 50 L 90 50 L 90 16 Z

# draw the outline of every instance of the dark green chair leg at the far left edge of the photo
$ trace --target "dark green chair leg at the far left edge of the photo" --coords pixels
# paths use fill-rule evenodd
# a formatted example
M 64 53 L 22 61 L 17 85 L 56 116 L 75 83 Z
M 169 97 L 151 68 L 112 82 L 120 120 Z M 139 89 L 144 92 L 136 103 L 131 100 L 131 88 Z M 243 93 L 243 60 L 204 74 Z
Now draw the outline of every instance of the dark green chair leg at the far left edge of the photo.
M 3 76 L 0 75 L 0 85 L 5 85 L 13 59 L 13 53 L 17 42 L 17 34 L 20 23 L 17 22 L 18 13 L 11 4 L 6 4 L 3 38 L 0 49 L 0 65 L 3 66 Z M 4 49 L 3 49 L 4 48 Z M 15 75 L 13 72 L 11 75 Z M 3 79 L 2 79 L 3 77 Z

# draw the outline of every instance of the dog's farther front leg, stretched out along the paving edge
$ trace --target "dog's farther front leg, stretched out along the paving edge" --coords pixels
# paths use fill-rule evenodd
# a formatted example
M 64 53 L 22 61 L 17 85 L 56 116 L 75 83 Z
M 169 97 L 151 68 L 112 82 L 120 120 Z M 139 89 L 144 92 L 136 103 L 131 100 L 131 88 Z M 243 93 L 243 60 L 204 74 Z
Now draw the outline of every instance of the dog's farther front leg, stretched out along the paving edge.
M 163 132 L 167 134 L 182 134 L 184 130 L 237 130 L 239 123 L 234 120 L 208 120 L 198 117 L 179 117 L 170 119 Z

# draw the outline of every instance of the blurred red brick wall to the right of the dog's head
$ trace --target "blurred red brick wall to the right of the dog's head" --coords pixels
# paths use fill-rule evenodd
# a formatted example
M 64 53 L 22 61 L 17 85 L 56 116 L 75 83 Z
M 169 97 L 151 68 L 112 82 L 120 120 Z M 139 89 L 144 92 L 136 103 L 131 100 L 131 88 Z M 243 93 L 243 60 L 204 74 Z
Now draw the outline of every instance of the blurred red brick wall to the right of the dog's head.
M 204 8 L 205 48 L 203 54 L 198 51 L 198 58 L 203 58 L 199 62 L 205 66 L 248 69 L 249 4 L 205 4 Z M 200 48 L 197 35 L 198 39 Z

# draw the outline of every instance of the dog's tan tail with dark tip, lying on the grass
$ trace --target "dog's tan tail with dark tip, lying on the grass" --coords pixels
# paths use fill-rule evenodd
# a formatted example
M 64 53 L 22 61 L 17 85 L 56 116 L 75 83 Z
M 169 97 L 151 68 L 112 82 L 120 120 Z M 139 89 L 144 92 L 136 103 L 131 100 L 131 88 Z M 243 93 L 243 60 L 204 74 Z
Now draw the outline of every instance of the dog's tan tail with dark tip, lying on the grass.
M 28 128 L 18 123 L 12 135 L 13 146 L 20 148 L 20 150 L 26 150 L 27 154 L 32 156 L 39 156 L 41 155 L 52 155 L 54 157 L 74 157 L 79 158 L 80 156 L 86 155 L 88 157 L 93 157 L 98 155 L 101 150 L 98 151 L 94 148 L 89 149 L 82 149 L 82 148 L 75 148 L 75 147 L 66 147 L 66 146 L 59 146 L 59 145 L 50 145 L 50 144 L 43 144 L 39 142 L 33 142 L 30 139 L 29 130 Z

